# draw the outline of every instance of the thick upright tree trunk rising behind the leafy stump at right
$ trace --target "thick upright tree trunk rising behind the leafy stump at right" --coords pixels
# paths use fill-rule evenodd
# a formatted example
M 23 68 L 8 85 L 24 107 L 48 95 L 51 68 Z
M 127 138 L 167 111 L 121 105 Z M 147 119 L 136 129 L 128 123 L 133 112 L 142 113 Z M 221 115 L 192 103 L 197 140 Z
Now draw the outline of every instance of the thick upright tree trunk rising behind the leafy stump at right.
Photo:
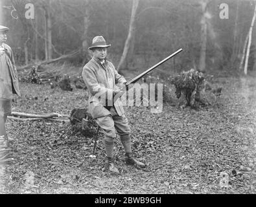
M 207 1 L 201 1 L 202 5 L 202 19 L 201 19 L 201 50 L 200 50 L 200 61 L 199 71 L 205 71 L 205 56 L 206 56 L 206 44 L 207 44 Z

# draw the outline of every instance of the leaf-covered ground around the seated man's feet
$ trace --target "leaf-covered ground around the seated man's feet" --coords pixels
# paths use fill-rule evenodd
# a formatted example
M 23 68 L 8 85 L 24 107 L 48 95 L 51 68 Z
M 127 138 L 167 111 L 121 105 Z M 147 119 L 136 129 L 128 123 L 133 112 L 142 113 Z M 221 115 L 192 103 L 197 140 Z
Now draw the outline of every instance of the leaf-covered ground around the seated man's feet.
M 164 105 L 162 113 L 153 114 L 146 107 L 126 107 L 135 157 L 147 166 L 126 166 L 116 140 L 121 175 L 102 171 L 102 136 L 97 157 L 90 158 L 93 137 L 78 135 L 69 124 L 8 120 L 15 160 L 5 167 L 3 193 L 256 193 L 255 78 L 215 81 L 222 96 L 197 111 Z M 21 89 L 23 98 L 13 111 L 70 114 L 87 106 L 81 89 L 65 92 L 28 83 Z

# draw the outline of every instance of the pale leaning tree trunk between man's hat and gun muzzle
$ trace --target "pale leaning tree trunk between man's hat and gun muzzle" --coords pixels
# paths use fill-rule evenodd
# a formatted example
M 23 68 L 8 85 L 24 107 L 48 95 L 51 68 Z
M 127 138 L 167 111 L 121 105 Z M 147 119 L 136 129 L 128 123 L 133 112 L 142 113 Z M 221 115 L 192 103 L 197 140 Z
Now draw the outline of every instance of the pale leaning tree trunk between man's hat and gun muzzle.
M 125 44 L 124 44 L 124 50 L 122 52 L 121 60 L 119 61 L 119 65 L 117 67 L 117 71 L 122 69 L 122 65 L 124 65 L 125 60 L 126 60 L 126 56 L 128 54 L 128 50 L 129 50 L 129 47 L 130 47 L 130 41 L 132 39 L 132 36 L 134 35 L 135 14 L 136 14 L 136 10 L 138 8 L 138 5 L 139 5 L 139 0 L 133 0 L 132 1 L 132 14 L 131 14 L 131 18 L 130 18 L 130 26 L 129 26 L 128 36 L 127 36 Z

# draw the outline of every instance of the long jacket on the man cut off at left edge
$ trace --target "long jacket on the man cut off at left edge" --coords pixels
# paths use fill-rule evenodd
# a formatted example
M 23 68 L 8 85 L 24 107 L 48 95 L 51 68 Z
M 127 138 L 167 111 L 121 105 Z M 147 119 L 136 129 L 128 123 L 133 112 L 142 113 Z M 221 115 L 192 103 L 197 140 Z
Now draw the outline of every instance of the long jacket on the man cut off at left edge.
M 3 47 L 8 52 L 8 55 L 4 53 L 0 56 L 0 98 L 12 99 L 12 94 L 21 96 L 17 69 L 12 49 L 5 43 L 3 43 Z

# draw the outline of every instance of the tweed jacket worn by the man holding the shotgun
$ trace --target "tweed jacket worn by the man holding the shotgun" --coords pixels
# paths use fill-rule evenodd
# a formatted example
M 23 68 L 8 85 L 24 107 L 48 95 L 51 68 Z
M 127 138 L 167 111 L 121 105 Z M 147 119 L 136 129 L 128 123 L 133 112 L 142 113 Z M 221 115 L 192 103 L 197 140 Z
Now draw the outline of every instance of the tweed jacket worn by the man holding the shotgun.
M 113 89 L 117 83 L 124 83 L 126 80 L 115 70 L 113 63 L 105 59 L 102 64 L 97 58 L 92 58 L 84 65 L 82 78 L 89 89 L 88 110 L 93 118 L 111 114 L 104 107 L 106 105 L 113 105 L 119 116 L 124 115 L 120 98 L 113 103 Z

